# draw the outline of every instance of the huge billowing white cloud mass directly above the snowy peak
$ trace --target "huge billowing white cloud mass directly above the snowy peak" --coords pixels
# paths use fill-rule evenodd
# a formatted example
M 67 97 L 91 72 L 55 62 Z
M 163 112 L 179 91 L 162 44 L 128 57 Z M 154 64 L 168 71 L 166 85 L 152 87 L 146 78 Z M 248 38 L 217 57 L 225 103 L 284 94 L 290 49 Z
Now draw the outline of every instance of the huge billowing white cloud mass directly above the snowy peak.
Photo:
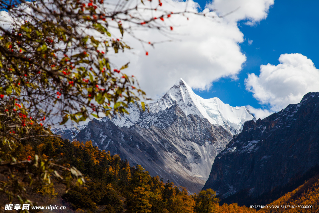
M 237 15 L 236 21 L 247 18 L 259 21 L 266 18 L 269 5 L 273 3 L 269 3 L 269 0 L 258 1 L 263 2 L 263 7 L 256 9 L 247 7 L 248 3 L 245 1 L 241 2 L 244 5 L 236 3 L 236 6 L 241 5 L 245 10 Z M 184 11 L 187 4 L 189 11 L 197 12 L 198 4 L 193 1 L 186 3 L 168 0 L 163 3 L 163 9 Z M 233 5 L 227 5 L 218 4 L 216 8 L 220 9 L 219 11 L 231 11 Z M 228 20 L 229 16 L 218 18 L 215 11 L 209 12 L 207 8 L 203 13 L 216 18 L 209 19 L 187 13 L 185 17 L 172 16 L 163 23 L 174 27 L 174 34 L 170 35 L 173 42 L 155 45 L 155 49 L 146 45 L 145 49 L 142 49 L 136 40 L 129 39 L 128 43 L 135 48 L 135 54 L 115 56 L 118 60 L 126 59 L 131 62 L 130 68 L 125 72 L 137 76 L 142 89 L 149 97 L 156 99 L 161 96 L 179 78 L 184 79 L 190 87 L 200 90 L 208 89 L 212 82 L 221 77 L 236 79 L 246 61 L 246 56 L 239 47 L 239 43 L 244 41 L 243 34 L 236 22 Z M 139 32 L 137 36 L 151 42 L 165 39 L 154 30 Z M 125 35 L 124 39 L 127 39 Z M 145 51 L 148 51 L 148 56 L 145 56 Z

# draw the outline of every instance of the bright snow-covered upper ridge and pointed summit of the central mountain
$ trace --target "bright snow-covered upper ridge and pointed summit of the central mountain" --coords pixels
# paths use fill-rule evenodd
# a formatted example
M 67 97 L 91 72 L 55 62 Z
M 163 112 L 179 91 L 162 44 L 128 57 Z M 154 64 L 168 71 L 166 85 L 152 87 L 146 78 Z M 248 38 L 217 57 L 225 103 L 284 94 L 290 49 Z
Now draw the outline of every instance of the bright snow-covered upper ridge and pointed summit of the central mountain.
M 158 113 L 160 110 L 165 110 L 175 104 L 178 104 L 186 115 L 193 114 L 206 118 L 211 124 L 224 127 L 232 135 L 240 133 L 246 121 L 256 121 L 256 118 L 250 114 L 246 107 L 232 107 L 223 103 L 217 97 L 204 99 L 196 95 L 182 79 L 178 80 L 155 103 L 150 103 L 148 106 L 150 113 Z M 111 120 L 112 123 L 119 127 L 130 127 L 134 124 L 139 124 L 144 128 L 150 126 L 143 120 L 145 117 L 141 116 L 144 113 L 141 113 L 133 103 L 129 104 L 127 110 L 130 113 L 129 115 L 123 115 L 121 118 L 115 116 Z M 102 120 L 107 121 L 109 118 L 105 117 Z

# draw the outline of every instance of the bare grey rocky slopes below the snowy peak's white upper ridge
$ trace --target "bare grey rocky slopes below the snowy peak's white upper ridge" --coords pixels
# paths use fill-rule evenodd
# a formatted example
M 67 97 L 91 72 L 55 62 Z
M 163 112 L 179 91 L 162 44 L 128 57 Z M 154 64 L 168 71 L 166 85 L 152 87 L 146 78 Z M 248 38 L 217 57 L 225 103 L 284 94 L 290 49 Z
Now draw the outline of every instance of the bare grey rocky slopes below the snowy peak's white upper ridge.
M 141 126 L 148 123 L 148 128 L 139 124 L 119 127 L 110 120 L 93 119 L 76 140 L 91 140 L 93 145 L 119 154 L 131 165 L 142 165 L 152 176 L 159 175 L 176 186 L 186 186 L 190 193 L 200 191 L 215 156 L 232 135 L 205 118 L 186 116 L 178 105 L 158 113 L 142 114 L 145 118 Z

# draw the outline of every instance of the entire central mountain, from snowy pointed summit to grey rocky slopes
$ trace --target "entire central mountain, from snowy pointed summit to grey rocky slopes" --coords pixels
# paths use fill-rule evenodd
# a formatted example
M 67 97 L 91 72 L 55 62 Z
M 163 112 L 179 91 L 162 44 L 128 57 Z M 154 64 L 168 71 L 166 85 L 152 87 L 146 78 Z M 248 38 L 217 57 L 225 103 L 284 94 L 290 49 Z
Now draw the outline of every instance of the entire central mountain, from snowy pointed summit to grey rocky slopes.
M 231 107 L 218 98 L 203 99 L 181 79 L 157 102 L 141 111 L 129 104 L 129 115 L 85 126 L 53 129 L 62 138 L 93 142 L 119 154 L 131 165 L 140 164 L 152 176 L 200 191 L 208 179 L 215 156 L 245 121 L 255 119 L 245 107 Z M 256 120 L 256 119 L 255 119 Z

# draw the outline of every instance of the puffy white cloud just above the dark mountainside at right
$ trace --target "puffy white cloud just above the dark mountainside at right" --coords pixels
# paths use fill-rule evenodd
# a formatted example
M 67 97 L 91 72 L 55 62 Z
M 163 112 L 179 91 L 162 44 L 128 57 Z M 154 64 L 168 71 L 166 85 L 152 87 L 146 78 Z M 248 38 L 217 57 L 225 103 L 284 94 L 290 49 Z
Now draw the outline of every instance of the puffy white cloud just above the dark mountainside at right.
M 251 73 L 245 79 L 246 89 L 271 111 L 299 103 L 306 93 L 319 91 L 319 70 L 309 58 L 299 53 L 283 54 L 279 62 L 261 65 L 259 76 Z

